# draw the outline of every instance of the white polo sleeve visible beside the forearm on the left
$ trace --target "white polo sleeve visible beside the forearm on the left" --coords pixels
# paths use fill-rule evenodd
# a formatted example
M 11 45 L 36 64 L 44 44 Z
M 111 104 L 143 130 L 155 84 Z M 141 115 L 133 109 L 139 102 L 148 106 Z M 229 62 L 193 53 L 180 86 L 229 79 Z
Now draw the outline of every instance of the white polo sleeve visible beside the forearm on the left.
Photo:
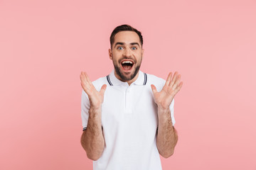
M 82 90 L 82 96 L 81 96 L 81 116 L 82 116 L 82 130 L 86 130 L 88 118 L 89 118 L 89 109 L 90 109 L 90 101 L 85 93 L 84 90 Z

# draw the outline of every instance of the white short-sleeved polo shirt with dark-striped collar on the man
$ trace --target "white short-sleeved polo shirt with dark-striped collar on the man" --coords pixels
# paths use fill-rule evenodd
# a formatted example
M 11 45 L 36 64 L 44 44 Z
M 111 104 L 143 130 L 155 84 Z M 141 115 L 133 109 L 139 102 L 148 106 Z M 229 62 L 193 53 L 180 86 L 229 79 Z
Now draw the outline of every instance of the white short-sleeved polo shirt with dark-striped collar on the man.
M 102 128 L 105 149 L 102 157 L 93 162 L 95 170 L 159 170 L 161 161 L 156 147 L 158 126 L 157 106 L 151 84 L 161 91 L 164 79 L 139 71 L 139 77 L 130 86 L 114 76 L 93 81 L 97 91 L 107 84 L 102 103 Z M 82 127 L 87 128 L 90 102 L 82 90 Z M 174 120 L 174 100 L 171 102 Z

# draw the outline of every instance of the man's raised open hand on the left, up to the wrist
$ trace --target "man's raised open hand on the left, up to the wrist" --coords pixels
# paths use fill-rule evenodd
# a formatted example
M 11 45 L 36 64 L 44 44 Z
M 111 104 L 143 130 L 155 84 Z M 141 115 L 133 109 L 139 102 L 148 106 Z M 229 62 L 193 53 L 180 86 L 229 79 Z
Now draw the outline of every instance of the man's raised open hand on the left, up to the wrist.
M 85 93 L 88 95 L 91 108 L 100 108 L 104 100 L 104 93 L 107 85 L 104 84 L 100 91 L 97 91 L 86 72 L 81 72 L 80 79 L 82 89 L 84 89 Z

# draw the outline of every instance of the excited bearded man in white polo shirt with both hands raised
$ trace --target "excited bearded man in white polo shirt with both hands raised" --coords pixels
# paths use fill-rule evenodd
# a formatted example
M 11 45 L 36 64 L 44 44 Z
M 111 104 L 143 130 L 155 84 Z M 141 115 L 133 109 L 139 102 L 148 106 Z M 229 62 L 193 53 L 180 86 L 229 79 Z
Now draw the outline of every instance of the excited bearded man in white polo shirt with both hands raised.
M 122 25 L 110 36 L 114 70 L 91 82 L 81 72 L 82 147 L 93 168 L 124 170 L 161 169 L 178 140 L 174 128 L 174 96 L 181 75 L 166 81 L 139 71 L 144 50 L 142 34 Z

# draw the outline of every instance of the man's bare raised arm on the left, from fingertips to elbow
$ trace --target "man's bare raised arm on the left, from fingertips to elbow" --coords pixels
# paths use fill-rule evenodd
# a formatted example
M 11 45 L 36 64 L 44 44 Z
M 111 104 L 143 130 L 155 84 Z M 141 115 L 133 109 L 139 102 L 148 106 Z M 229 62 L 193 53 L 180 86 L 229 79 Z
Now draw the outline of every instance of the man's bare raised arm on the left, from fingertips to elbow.
M 82 89 L 85 90 L 90 101 L 87 129 L 82 132 L 81 145 L 85 149 L 87 157 L 96 161 L 101 157 L 105 147 L 102 134 L 101 106 L 107 85 L 103 85 L 100 91 L 97 91 L 85 72 L 81 73 L 80 79 Z

